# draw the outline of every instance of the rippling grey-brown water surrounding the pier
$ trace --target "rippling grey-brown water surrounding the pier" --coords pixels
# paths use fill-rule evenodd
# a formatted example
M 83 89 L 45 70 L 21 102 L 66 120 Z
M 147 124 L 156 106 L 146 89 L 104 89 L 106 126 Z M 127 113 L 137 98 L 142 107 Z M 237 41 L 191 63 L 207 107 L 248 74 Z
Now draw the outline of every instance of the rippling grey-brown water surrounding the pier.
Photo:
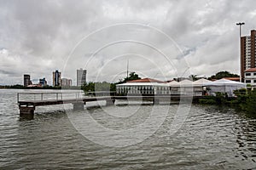
M 1 169 L 256 169 L 256 119 L 233 109 L 191 105 L 175 132 L 179 105 L 43 106 L 24 120 L 22 91 L 0 89 Z

